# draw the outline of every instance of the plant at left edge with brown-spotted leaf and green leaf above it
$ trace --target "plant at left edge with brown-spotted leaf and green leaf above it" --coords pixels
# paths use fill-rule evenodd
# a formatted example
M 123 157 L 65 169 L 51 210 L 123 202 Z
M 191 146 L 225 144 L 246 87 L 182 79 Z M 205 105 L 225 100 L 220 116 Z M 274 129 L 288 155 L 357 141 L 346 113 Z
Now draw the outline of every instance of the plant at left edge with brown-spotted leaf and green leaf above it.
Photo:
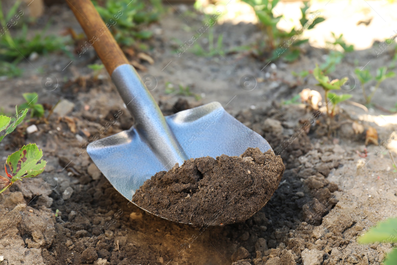
M 15 109 L 17 109 L 15 107 Z M 18 124 L 22 122 L 27 113 L 27 109 L 19 112 L 15 117 L 0 116 L 0 141 L 7 134 L 11 133 Z M 10 187 L 15 181 L 23 178 L 31 178 L 39 175 L 44 171 L 46 161 L 41 159 L 43 152 L 37 148 L 35 143 L 24 145 L 18 151 L 12 153 L 7 157 L 4 170 L 6 177 L 0 176 L 0 193 Z

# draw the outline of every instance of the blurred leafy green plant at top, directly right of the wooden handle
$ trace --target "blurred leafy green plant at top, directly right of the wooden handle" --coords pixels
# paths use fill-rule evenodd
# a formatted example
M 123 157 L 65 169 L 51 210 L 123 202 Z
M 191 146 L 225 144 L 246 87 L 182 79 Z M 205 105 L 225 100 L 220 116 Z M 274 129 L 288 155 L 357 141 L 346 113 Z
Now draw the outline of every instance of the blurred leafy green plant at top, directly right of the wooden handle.
M 98 1 L 99 2 L 99 1 Z M 111 1 L 106 0 L 104 6 L 94 1 L 94 6 L 116 41 L 122 46 L 135 44 L 135 39 L 149 39 L 153 33 L 141 30 L 139 25 L 158 21 L 163 8 L 161 1 L 151 0 L 152 6 L 145 6 L 142 1 Z

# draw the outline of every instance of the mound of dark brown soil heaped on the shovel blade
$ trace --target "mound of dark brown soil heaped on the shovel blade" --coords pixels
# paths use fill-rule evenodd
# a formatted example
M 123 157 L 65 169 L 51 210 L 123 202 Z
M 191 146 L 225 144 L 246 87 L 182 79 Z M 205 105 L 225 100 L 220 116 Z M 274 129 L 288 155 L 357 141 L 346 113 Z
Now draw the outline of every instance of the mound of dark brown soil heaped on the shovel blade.
M 270 199 L 285 166 L 269 150 L 248 148 L 240 157 L 200 157 L 160 171 L 132 201 L 166 219 L 222 225 L 249 219 Z

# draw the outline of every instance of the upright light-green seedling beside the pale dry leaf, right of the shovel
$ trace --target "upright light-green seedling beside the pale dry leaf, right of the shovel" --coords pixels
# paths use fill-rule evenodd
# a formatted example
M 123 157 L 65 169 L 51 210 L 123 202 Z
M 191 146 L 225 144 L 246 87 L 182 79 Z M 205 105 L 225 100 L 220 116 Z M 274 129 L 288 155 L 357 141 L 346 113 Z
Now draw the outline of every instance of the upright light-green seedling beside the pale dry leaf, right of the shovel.
M 330 91 L 341 89 L 341 86 L 343 85 L 343 82 L 346 81 L 346 79 L 341 79 L 341 80 L 334 79 L 334 80 L 330 81 L 330 78 L 328 76 L 324 75 L 324 73 L 320 70 L 318 65 L 316 65 L 316 68 L 314 68 L 313 75 L 314 75 L 314 78 L 318 81 L 317 85 L 322 87 L 325 91 L 325 100 L 327 101 L 328 99 L 330 99 L 330 102 L 332 102 L 332 104 L 333 104 L 332 110 L 330 112 L 329 102 L 326 102 L 327 114 L 329 116 L 333 117 L 335 114 L 334 111 L 335 111 L 336 104 L 351 98 L 351 95 L 343 94 L 343 95 L 337 96 L 334 93 L 330 93 Z M 330 95 L 331 95 L 331 97 L 330 97 Z

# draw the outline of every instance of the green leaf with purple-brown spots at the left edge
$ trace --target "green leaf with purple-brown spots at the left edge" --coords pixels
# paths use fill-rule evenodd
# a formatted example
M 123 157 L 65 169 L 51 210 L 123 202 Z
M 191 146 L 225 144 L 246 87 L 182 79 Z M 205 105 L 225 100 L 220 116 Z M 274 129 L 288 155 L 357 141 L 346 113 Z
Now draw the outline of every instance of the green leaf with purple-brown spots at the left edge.
M 41 160 L 39 162 L 42 156 L 43 152 L 37 148 L 35 143 L 24 145 L 21 149 L 9 155 L 4 168 L 7 176 L 12 178 L 11 182 L 22 178 L 35 177 L 43 172 L 46 161 Z M 38 162 L 39 164 L 37 164 Z

